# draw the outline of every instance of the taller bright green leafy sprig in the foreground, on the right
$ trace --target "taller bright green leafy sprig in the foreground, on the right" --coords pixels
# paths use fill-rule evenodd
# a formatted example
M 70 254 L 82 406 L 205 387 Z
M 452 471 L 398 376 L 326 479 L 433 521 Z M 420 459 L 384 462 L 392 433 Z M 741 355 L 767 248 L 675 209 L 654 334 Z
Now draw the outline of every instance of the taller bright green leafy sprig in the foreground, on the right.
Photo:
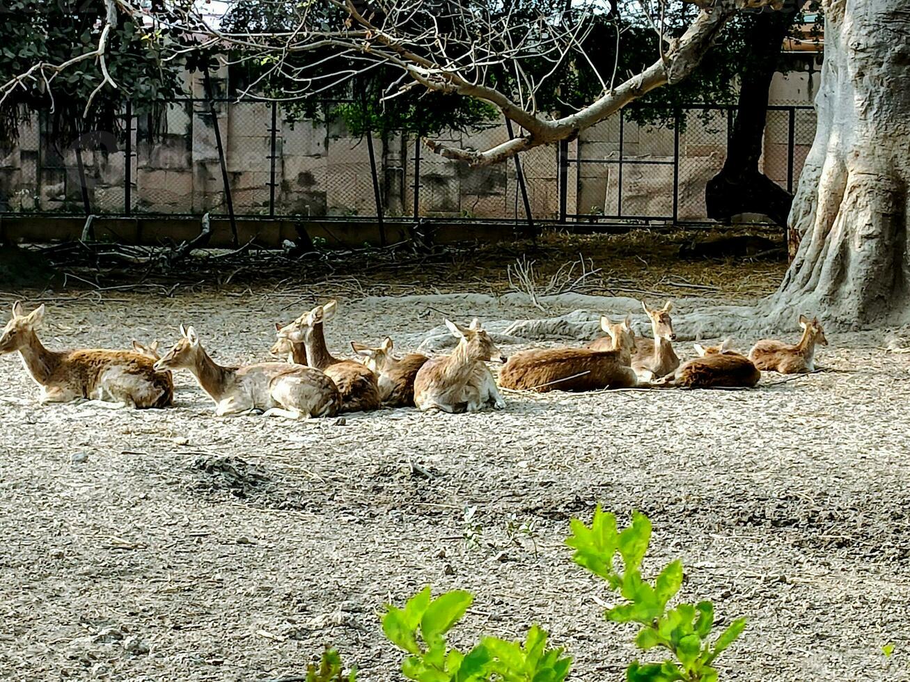
M 714 607 L 710 601 L 668 607 L 682 587 L 682 562 L 663 567 L 653 583 L 642 578 L 642 559 L 651 541 L 651 521 L 643 514 L 633 514 L 632 525 L 621 532 L 616 517 L 598 505 L 591 527 L 572 519 L 571 530 L 566 544 L 575 550 L 575 563 L 602 577 L 627 602 L 608 609 L 607 619 L 642 625 L 635 643 L 642 649 L 663 648 L 673 656 L 660 663 L 633 661 L 626 670 L 628 682 L 716 682 L 717 670 L 712 664 L 743 632 L 745 618 L 734 620 L 712 644 Z M 613 566 L 617 553 L 622 557 L 622 571 Z

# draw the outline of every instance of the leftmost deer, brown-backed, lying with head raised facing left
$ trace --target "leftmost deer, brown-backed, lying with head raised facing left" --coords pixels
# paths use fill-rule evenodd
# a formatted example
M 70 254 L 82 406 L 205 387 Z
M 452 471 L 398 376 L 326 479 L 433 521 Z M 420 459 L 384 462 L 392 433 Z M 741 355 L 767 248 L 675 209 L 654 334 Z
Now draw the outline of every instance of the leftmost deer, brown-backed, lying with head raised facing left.
M 18 351 L 40 388 L 41 405 L 87 400 L 101 407 L 147 409 L 173 403 L 173 386 L 147 356 L 98 348 L 48 350 L 35 334 L 44 317 L 45 306 L 25 315 L 22 303 L 16 302 L 0 335 L 0 355 Z

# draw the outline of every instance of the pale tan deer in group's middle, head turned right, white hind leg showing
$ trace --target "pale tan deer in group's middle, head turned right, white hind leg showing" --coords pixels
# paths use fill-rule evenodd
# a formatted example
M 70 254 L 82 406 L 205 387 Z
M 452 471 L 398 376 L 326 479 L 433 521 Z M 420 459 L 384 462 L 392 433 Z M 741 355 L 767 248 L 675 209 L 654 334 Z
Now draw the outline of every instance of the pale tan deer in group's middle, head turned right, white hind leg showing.
M 448 356 L 431 357 L 414 377 L 414 405 L 421 411 L 440 410 L 450 414 L 480 412 L 484 407 L 504 409 L 496 380 L 484 365 L 493 358 L 505 361 L 487 330 L 475 317 L 470 326 L 445 320 L 459 341 Z

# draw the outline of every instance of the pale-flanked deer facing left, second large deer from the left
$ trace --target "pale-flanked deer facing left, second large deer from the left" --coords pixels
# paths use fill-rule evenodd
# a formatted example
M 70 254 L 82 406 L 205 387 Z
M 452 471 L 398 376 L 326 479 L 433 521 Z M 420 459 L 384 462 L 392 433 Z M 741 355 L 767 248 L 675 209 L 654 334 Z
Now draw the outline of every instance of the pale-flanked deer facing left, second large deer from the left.
M 196 330 L 180 325 L 180 338 L 157 360 L 158 372 L 188 369 L 215 403 L 216 416 L 261 411 L 288 419 L 333 416 L 341 405 L 332 380 L 313 367 L 287 362 L 221 366 L 208 356 Z

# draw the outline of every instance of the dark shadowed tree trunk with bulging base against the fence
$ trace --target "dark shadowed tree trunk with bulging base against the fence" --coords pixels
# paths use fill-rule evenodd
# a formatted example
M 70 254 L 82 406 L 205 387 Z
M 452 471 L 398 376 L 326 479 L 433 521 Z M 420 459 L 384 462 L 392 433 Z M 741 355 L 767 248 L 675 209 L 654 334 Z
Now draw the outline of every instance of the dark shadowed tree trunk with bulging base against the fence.
M 708 182 L 704 200 L 708 217 L 721 222 L 743 213 L 760 213 L 785 227 L 793 196 L 758 169 L 762 156 L 768 90 L 777 70 L 781 46 L 793 22 L 795 4 L 780 12 L 763 11 L 745 35 L 750 53 L 743 72 L 736 122 L 720 173 Z

